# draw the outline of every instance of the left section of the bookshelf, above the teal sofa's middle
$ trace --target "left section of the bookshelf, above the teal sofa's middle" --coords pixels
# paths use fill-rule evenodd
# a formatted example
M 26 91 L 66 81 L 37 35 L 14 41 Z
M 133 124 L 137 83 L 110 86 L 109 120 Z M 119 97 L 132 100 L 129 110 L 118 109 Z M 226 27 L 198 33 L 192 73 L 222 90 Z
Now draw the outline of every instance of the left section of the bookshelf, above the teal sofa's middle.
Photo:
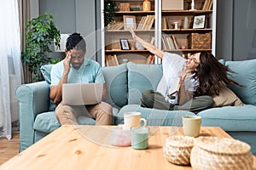
M 133 27 L 138 36 L 151 42 L 155 37 L 157 20 L 155 19 L 155 8 L 158 6 L 158 1 L 150 0 L 151 8 L 149 11 L 143 11 L 143 0 L 116 0 L 115 3 L 117 4 L 117 11 L 114 16 L 114 23 L 111 26 L 102 26 L 102 37 L 104 37 L 102 38 L 102 47 L 104 47 L 102 48 L 102 66 L 109 65 L 109 55 L 116 56 L 119 64 L 127 59 L 135 63 L 154 64 L 155 61 L 148 50 L 137 48 L 136 42 L 131 37 L 129 27 Z M 104 1 L 102 1 L 102 7 L 104 7 Z M 127 8 L 129 9 L 127 10 Z M 103 14 L 102 20 L 104 20 Z M 130 49 L 122 49 L 120 39 L 127 39 Z

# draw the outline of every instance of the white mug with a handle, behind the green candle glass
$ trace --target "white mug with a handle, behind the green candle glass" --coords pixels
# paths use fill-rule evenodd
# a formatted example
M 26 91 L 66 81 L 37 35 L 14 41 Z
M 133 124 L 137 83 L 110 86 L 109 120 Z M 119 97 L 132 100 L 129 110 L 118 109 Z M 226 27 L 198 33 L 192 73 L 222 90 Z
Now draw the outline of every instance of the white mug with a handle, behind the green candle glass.
M 141 118 L 142 113 L 140 112 L 126 112 L 124 113 L 125 127 L 140 127 L 143 122 L 143 127 L 147 126 L 147 120 Z

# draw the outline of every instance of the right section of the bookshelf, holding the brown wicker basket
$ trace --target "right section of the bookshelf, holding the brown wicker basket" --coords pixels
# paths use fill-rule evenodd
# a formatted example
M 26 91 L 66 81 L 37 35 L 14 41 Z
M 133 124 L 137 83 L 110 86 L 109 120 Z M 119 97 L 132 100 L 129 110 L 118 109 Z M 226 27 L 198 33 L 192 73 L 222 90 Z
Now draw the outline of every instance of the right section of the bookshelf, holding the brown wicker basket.
M 190 54 L 206 50 L 215 54 L 216 42 L 216 0 L 195 0 L 195 10 L 190 10 L 191 0 L 183 0 L 183 10 L 161 10 L 160 47 L 164 51 L 181 54 L 188 57 Z M 201 26 L 196 27 L 196 20 L 203 17 Z M 166 23 L 163 21 L 167 20 Z M 185 24 L 185 20 L 188 22 Z M 174 22 L 178 23 L 177 28 Z M 178 48 L 170 47 L 170 41 L 175 37 Z M 168 46 L 169 42 L 169 46 Z

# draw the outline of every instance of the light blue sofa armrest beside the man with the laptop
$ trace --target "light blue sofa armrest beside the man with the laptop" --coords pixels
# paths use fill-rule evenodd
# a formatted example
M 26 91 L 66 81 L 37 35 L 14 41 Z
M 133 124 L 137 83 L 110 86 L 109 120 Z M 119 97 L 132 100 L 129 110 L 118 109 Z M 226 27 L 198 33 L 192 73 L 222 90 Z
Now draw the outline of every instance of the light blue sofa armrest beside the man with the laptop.
M 20 151 L 34 143 L 35 117 L 49 110 L 49 84 L 33 82 L 16 89 L 20 107 Z

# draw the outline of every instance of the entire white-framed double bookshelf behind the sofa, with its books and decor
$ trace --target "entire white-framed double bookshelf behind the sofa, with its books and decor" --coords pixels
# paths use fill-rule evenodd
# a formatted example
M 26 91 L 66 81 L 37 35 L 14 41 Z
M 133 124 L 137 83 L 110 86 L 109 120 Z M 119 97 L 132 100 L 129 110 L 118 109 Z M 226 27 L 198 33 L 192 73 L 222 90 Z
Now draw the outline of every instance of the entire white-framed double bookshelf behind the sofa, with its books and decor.
M 215 54 L 217 0 L 195 0 L 195 10 L 189 10 L 191 0 L 178 0 L 183 1 L 183 8 L 162 10 L 163 1 L 167 0 L 151 0 L 150 11 L 143 11 L 143 0 L 115 1 L 118 9 L 114 16 L 114 24 L 106 27 L 102 21 L 102 66 L 107 66 L 108 55 L 115 56 L 118 64 L 122 64 L 123 59 L 141 64 L 161 62 L 157 57 L 154 57 L 152 62 L 152 54 L 148 50 L 137 48 L 127 27 L 133 27 L 137 35 L 148 42 L 154 39 L 152 43 L 167 52 L 184 57 L 201 50 Z M 126 8 L 125 11 L 123 7 Z M 201 20 L 201 16 L 204 16 L 203 28 L 195 28 L 194 20 Z M 189 21 L 187 26 L 184 26 L 185 17 Z M 174 22 L 178 22 L 177 28 L 173 25 Z M 130 49 L 121 49 L 120 39 L 127 39 Z M 197 44 L 196 41 L 201 43 Z

